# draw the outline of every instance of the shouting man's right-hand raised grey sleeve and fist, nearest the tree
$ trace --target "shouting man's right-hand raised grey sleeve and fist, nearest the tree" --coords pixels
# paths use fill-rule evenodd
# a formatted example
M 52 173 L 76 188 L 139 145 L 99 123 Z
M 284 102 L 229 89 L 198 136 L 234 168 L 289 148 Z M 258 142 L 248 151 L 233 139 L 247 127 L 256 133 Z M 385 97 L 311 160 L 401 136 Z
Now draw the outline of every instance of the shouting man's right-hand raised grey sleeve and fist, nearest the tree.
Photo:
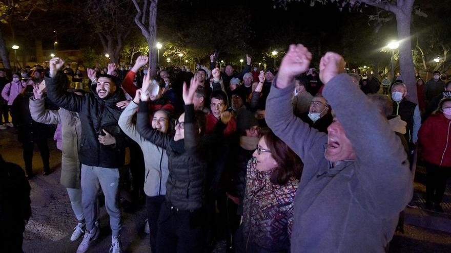
M 339 74 L 344 66 L 343 58 L 335 53 L 326 53 L 321 59 L 323 96 L 352 144 L 356 176 L 365 185 L 365 194 L 376 203 L 372 210 L 394 215 L 404 209 L 413 193 L 407 155 L 376 106 L 347 74 Z

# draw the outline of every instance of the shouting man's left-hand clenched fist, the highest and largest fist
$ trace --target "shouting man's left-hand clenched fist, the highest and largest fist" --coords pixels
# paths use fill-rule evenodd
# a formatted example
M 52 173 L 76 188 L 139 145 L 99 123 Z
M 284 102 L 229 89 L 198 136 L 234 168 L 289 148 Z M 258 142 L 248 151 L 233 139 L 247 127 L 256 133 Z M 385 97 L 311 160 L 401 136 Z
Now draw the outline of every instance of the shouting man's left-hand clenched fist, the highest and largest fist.
M 302 44 L 291 44 L 280 63 L 277 87 L 288 87 L 293 78 L 309 70 L 312 53 Z

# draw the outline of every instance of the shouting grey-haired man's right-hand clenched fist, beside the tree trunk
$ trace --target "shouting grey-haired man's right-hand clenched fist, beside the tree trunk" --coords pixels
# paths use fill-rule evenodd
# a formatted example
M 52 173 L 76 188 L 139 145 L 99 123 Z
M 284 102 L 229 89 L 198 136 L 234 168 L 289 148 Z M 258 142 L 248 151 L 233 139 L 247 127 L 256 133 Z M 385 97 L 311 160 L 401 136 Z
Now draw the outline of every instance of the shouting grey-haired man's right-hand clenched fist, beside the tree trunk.
M 326 84 L 340 73 L 344 72 L 346 62 L 337 53 L 327 52 L 319 63 L 319 79 Z

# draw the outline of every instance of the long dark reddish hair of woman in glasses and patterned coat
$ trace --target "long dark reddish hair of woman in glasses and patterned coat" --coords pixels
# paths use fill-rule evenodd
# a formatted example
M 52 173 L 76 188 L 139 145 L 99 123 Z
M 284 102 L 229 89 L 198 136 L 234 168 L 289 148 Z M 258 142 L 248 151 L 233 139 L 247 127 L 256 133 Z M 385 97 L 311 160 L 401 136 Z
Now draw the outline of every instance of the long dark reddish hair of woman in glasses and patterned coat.
M 262 136 L 278 165 L 271 174 L 271 182 L 283 186 L 291 177 L 299 179 L 304 166 L 299 156 L 272 131 L 264 131 Z

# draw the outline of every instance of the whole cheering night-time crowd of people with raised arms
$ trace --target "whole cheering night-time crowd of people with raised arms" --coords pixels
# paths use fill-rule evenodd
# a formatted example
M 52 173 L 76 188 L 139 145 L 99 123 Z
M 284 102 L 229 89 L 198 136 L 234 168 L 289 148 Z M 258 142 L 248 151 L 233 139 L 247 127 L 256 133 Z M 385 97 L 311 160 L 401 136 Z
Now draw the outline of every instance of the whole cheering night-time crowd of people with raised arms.
M 241 72 L 221 69 L 215 58 L 195 73 L 158 67 L 151 77 L 141 55 L 133 66 L 88 68 L 88 82 L 60 58 L 12 81 L 0 71 L 0 129 L 15 128 L 28 179 L 34 144 L 44 175 L 52 172 L 48 138 L 62 151 L 60 182 L 76 218 L 70 240 L 83 237 L 77 253 L 99 236 L 100 191 L 111 252 L 122 252 L 121 204 L 133 211 L 142 200 L 152 252 L 211 252 L 219 240 L 228 252 L 387 252 L 412 201 L 417 153 L 426 206 L 443 212 L 451 82 L 440 73 L 418 77 L 417 105 L 400 75 L 346 74 L 331 52 L 317 71 L 301 44 L 290 45 L 277 70 L 260 70 L 248 55 Z M 14 217 L 17 233 L 8 236 L 20 238 L 6 245 L 19 252 L 30 189 L 9 167 L 24 186 L 14 200 L 23 212 L 4 211 L 13 201 L 4 198 L 0 211 L 2 222 Z M 1 175 L 2 192 L 17 187 L 3 184 L 11 173 Z

